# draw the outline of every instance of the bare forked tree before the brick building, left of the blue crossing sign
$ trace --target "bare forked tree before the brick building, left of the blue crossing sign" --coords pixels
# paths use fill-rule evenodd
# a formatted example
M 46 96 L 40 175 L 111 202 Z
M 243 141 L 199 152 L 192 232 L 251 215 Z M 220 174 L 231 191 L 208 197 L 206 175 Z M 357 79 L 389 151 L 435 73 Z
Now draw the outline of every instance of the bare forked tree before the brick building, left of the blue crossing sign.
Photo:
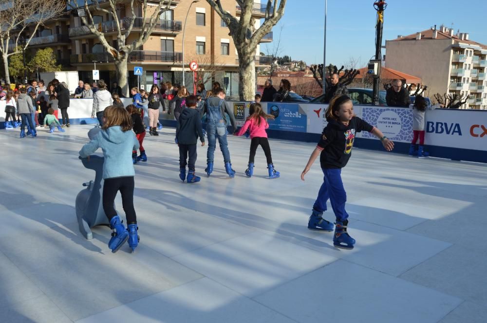
M 161 14 L 171 8 L 172 0 L 161 0 L 156 2 L 157 4 L 155 5 L 149 5 L 148 0 L 100 1 L 101 0 L 84 0 L 84 3 L 81 5 L 84 7 L 84 12 L 82 12 L 79 16 L 90 32 L 98 38 L 105 51 L 113 57 L 115 62 L 115 70 L 117 72 L 117 83 L 122 88 L 124 95 L 128 96 L 129 88 L 127 84 L 127 62 L 129 60 L 129 56 L 133 51 L 144 45 L 144 43 L 149 39 L 160 20 L 159 17 Z M 78 5 L 78 0 L 73 0 L 73 2 L 76 8 L 80 7 L 80 5 Z M 100 6 L 100 3 L 104 4 L 107 2 L 109 4 L 107 8 L 102 8 Z M 93 15 L 90 11 L 90 6 L 92 6 L 92 9 L 103 12 L 112 17 L 113 29 L 117 33 L 116 48 L 107 41 L 101 26 L 94 22 Z M 142 7 L 142 17 L 140 18 L 137 18 L 137 15 L 135 14 L 135 9 L 138 6 Z M 117 12 L 120 10 L 125 10 L 125 8 L 130 8 L 130 14 L 126 18 L 120 19 Z M 140 20 L 141 31 L 135 40 L 127 43 L 127 39 L 129 36 L 131 36 L 132 29 L 137 19 Z

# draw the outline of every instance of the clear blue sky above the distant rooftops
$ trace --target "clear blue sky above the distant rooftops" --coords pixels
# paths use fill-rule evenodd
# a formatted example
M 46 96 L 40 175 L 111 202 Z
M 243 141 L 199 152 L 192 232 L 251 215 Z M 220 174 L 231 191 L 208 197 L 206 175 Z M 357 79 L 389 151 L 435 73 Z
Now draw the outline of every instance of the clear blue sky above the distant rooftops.
M 264 1 L 262 1 L 264 2 Z M 384 15 L 383 45 L 397 35 L 410 35 L 441 24 L 455 33 L 469 33 L 469 39 L 487 44 L 487 0 L 389 0 Z M 367 62 L 375 54 L 374 0 L 328 0 L 326 63 L 345 64 L 350 57 Z M 414 5 L 417 3 L 417 5 Z M 468 8 L 463 4 L 468 3 Z M 322 63 L 325 0 L 287 0 L 284 17 L 274 27 L 281 56 L 306 63 Z M 268 45 L 272 50 L 272 43 Z M 266 45 L 261 52 L 266 52 Z M 385 50 L 383 50 L 385 54 Z M 365 65 L 364 65 L 365 66 Z

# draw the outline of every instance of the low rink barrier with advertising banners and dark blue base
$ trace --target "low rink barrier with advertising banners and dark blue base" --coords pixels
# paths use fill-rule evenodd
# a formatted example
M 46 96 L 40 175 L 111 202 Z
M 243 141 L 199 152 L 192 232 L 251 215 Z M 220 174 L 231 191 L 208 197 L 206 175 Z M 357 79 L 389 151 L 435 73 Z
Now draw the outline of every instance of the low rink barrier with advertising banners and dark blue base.
M 123 101 L 125 105 L 131 103 L 131 99 Z M 2 102 L 0 110 L 4 111 Z M 248 116 L 250 103 L 230 101 L 226 104 L 233 111 L 237 125 L 242 126 Z M 96 119 L 90 118 L 92 105 L 93 99 L 72 99 L 68 109 L 71 125 L 96 124 Z M 262 107 L 276 117 L 276 120 L 269 121 L 269 138 L 317 143 L 326 126 L 324 113 L 327 105 L 269 102 L 262 103 Z M 354 110 L 358 117 L 377 126 L 393 140 L 394 152 L 408 153 L 412 141 L 410 108 L 354 106 Z M 164 126 L 176 126 L 172 114 L 161 112 L 159 118 Z M 4 127 L 3 114 L 0 117 L 0 129 Z M 431 157 L 487 162 L 487 111 L 427 110 L 425 130 L 425 147 Z M 383 149 L 380 141 L 369 133 L 357 133 L 354 145 L 364 149 Z

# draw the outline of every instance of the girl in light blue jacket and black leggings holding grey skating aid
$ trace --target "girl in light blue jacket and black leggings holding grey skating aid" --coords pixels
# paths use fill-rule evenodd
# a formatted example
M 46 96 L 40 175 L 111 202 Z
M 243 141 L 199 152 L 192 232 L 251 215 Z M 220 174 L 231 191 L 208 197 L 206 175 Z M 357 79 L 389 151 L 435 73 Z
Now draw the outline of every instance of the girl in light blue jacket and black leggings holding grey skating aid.
M 139 142 L 132 130 L 132 118 L 126 109 L 110 106 L 103 111 L 101 131 L 79 151 L 81 158 L 89 158 L 98 148 L 103 151 L 103 210 L 114 230 L 108 243 L 112 252 L 117 252 L 129 240 L 132 251 L 138 245 L 137 217 L 133 207 L 135 171 L 131 159 L 132 150 L 139 148 Z M 127 216 L 128 228 L 122 224 L 114 208 L 117 192 L 122 194 L 122 205 Z

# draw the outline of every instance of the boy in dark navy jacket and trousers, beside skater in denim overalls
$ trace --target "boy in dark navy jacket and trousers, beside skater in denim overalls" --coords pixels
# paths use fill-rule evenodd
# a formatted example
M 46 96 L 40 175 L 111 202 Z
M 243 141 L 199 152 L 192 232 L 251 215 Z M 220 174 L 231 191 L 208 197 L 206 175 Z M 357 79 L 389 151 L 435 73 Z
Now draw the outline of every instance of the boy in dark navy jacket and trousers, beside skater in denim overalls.
M 195 176 L 196 163 L 196 142 L 200 137 L 201 145 L 205 145 L 203 136 L 203 127 L 201 126 L 200 113 L 196 110 L 196 96 L 189 95 L 186 98 L 186 109 L 181 112 L 176 127 L 176 144 L 179 146 L 179 178 L 188 183 L 195 183 L 201 180 L 201 177 Z M 189 154 L 189 161 L 187 162 Z M 188 173 L 186 177 L 186 165 Z

